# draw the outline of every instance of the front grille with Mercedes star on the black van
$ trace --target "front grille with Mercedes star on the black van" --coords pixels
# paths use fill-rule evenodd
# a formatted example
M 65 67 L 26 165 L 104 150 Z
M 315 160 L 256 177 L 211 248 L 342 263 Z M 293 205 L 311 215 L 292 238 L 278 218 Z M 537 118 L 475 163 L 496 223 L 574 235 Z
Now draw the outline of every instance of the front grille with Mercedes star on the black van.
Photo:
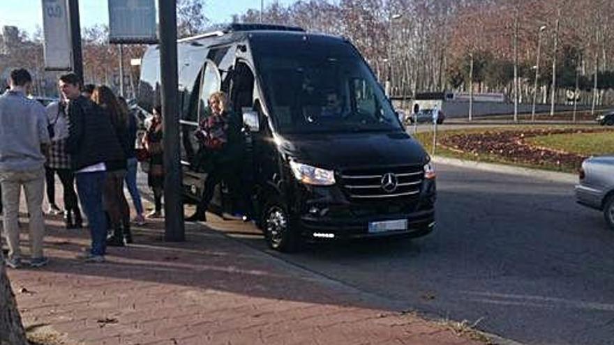
M 343 190 L 353 200 L 378 201 L 417 197 L 424 170 L 420 166 L 347 169 L 341 171 Z

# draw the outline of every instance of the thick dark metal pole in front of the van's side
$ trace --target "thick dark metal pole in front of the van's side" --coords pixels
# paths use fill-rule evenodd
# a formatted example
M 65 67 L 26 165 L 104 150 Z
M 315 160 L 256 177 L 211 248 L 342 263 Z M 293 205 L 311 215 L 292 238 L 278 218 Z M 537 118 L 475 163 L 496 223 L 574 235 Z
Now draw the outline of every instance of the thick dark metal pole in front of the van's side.
M 181 195 L 179 113 L 177 112 L 177 0 L 158 1 L 160 75 L 164 130 L 164 211 L 167 241 L 183 241 L 184 204 Z

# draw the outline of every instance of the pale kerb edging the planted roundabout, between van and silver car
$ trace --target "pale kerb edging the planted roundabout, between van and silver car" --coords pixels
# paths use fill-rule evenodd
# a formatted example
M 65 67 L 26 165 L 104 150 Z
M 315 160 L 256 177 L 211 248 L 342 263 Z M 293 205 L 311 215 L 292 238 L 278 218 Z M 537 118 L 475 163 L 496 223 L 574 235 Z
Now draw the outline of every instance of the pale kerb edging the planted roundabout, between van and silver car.
M 526 176 L 531 178 L 539 178 L 541 180 L 577 184 L 578 176 L 576 174 L 568 174 L 557 171 L 546 171 L 539 169 L 531 169 L 525 167 L 515 167 L 513 165 L 495 164 L 476 162 L 474 160 L 459 160 L 456 158 L 447 158 L 439 155 L 432 157 L 433 162 L 436 164 L 452 165 L 454 167 L 462 167 L 469 169 L 478 169 L 483 171 L 491 171 L 500 174 L 509 174 L 516 176 Z

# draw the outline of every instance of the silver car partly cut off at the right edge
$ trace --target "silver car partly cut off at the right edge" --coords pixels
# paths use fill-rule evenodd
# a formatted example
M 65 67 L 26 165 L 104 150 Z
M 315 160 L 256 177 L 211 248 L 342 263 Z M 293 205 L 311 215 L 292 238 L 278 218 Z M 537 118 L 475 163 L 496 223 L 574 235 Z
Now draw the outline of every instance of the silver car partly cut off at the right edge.
M 579 204 L 601 210 L 614 230 L 614 156 L 592 157 L 582 162 L 576 199 Z

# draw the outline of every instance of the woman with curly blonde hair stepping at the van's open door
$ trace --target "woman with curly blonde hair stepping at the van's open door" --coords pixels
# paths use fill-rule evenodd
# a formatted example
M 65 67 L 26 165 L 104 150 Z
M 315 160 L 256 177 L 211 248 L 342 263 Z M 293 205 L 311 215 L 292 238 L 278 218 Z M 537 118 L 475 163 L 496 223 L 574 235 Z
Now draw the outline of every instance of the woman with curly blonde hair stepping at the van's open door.
M 231 193 L 236 194 L 237 183 L 234 179 L 241 158 L 241 122 L 230 110 L 227 95 L 216 92 L 209 96 L 211 115 L 204 118 L 196 132 L 200 141 L 202 154 L 197 155 L 197 169 L 207 172 L 202 199 L 196 206 L 196 212 L 186 218 L 187 222 L 206 222 L 207 207 L 214 195 L 214 189 L 223 178 L 232 178 L 229 182 Z M 235 198 L 233 198 L 235 199 Z

